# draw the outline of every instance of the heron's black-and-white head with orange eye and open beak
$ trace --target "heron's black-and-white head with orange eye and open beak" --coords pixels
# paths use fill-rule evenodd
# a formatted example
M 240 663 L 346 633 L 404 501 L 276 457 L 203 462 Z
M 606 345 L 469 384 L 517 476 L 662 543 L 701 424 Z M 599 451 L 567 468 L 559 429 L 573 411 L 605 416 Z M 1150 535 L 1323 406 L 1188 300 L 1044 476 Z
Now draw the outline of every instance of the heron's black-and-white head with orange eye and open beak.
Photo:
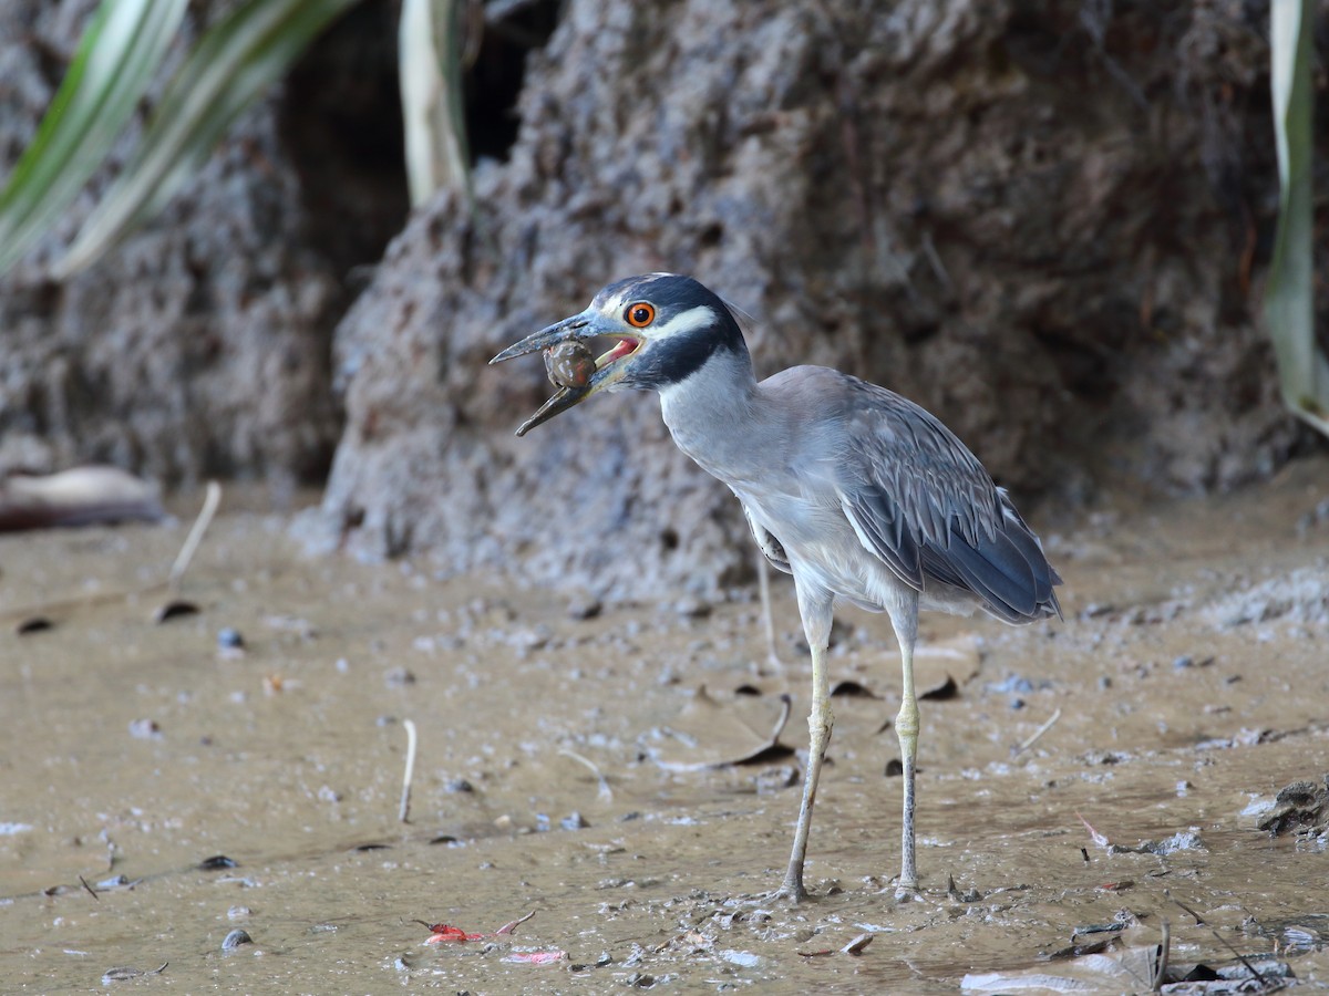
M 524 436 L 601 390 L 661 389 L 687 380 L 720 351 L 747 353 L 728 305 L 691 276 L 647 274 L 610 284 L 586 311 L 542 328 L 489 363 L 561 343 L 611 343 L 581 386 L 561 388 L 517 430 Z

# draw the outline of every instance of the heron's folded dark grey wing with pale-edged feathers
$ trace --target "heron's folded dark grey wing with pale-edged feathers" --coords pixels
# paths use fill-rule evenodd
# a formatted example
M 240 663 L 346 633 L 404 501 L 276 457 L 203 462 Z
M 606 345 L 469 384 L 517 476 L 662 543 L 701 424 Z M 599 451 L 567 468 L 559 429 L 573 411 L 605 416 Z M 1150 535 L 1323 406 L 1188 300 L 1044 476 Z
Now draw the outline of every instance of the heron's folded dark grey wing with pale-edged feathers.
M 1061 615 L 1061 578 L 978 458 L 898 394 L 845 377 L 840 503 L 859 540 L 913 588 L 968 590 L 1009 623 Z

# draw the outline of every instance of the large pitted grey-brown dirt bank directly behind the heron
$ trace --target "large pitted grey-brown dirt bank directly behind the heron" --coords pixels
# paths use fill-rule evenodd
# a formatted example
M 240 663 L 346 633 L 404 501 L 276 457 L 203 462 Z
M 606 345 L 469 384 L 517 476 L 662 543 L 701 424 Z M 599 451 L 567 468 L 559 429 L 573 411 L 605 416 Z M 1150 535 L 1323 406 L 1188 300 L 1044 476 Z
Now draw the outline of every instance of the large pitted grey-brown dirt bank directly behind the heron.
M 1239 3 L 574 0 L 474 212 L 417 212 L 338 331 L 324 523 L 621 592 L 744 571 L 736 503 L 654 398 L 514 441 L 544 371 L 484 365 L 649 270 L 752 312 L 759 373 L 886 384 L 1022 495 L 1269 473 L 1305 437 L 1252 303 L 1265 24 Z

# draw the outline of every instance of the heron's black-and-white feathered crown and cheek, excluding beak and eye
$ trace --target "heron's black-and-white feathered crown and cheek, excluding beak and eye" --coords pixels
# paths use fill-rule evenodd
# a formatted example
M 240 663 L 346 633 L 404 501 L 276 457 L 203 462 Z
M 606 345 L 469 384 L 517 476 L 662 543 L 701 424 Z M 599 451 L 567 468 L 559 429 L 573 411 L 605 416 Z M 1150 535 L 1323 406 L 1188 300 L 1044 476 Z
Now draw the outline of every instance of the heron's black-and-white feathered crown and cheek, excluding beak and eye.
M 658 389 L 678 384 L 722 351 L 747 356 L 743 332 L 728 305 L 691 276 L 647 274 L 619 280 L 595 295 L 591 308 L 623 316 L 638 301 L 654 307 L 655 319 L 641 329 L 645 345 L 633 359 L 623 386 Z

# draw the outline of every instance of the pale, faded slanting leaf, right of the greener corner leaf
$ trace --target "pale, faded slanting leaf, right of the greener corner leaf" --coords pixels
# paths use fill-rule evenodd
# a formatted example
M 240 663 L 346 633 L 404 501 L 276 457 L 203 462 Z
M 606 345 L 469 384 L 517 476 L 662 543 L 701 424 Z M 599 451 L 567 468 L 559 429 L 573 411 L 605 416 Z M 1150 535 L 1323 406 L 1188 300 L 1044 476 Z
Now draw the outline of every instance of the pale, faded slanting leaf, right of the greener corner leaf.
M 355 0 L 250 0 L 199 39 L 133 158 L 54 267 L 69 276 L 162 208 L 226 129 Z

